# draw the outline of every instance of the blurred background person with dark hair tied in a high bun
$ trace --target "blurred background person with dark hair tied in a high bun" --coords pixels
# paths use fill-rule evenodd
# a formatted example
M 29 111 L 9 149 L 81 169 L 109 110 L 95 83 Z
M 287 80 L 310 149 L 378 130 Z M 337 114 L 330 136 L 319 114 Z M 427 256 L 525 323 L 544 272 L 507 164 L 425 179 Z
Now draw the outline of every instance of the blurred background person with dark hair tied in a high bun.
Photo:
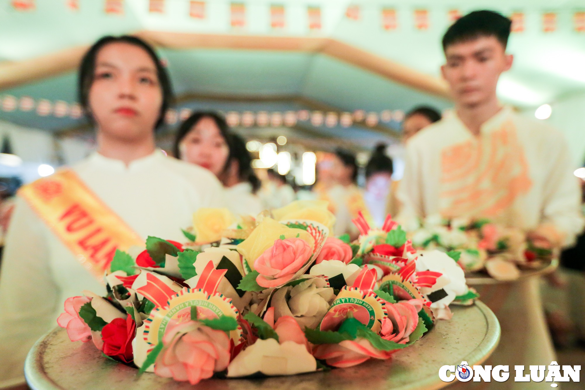
M 396 189 L 392 181 L 393 173 L 392 159 L 386 155 L 386 144 L 380 143 L 371 153 L 370 160 L 366 164 L 366 191 L 364 192 L 364 201 L 378 227 L 384 224 L 387 214 L 398 213 Z

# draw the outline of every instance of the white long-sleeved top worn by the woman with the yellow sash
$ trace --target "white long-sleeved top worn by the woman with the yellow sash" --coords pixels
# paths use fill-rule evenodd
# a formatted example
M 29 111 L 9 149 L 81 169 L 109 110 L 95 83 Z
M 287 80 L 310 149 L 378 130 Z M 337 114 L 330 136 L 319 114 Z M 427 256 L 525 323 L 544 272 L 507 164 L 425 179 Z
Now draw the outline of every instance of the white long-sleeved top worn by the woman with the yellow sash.
M 163 155 L 121 160 L 98 153 L 74 165 L 81 180 L 140 237 L 184 241 L 199 207 L 223 207 L 223 190 L 208 170 Z M 63 303 L 105 288 L 18 197 L 0 273 L 0 387 L 23 381 L 27 351 L 57 326 Z

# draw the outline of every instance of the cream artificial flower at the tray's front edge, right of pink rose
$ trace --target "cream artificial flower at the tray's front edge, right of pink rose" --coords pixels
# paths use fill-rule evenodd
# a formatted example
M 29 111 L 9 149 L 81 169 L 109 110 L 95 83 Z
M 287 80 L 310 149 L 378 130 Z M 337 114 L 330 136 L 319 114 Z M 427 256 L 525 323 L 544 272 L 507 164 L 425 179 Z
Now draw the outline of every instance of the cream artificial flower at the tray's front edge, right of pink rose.
M 245 377 L 257 372 L 264 375 L 295 375 L 316 369 L 317 362 L 305 345 L 295 341 L 278 343 L 274 338 L 259 338 L 230 362 L 228 378 Z

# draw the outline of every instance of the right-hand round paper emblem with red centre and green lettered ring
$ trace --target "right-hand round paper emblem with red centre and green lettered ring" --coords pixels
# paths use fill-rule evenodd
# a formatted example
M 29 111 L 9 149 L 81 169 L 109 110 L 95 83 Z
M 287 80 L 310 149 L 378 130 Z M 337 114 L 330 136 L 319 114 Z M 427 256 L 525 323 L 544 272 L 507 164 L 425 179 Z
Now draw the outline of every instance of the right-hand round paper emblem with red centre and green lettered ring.
M 325 313 L 319 330 L 335 330 L 347 317 L 353 316 L 373 331 L 380 330 L 380 321 L 386 317 L 386 303 L 376 293 L 364 293 L 354 287 L 344 287 L 331 308 Z

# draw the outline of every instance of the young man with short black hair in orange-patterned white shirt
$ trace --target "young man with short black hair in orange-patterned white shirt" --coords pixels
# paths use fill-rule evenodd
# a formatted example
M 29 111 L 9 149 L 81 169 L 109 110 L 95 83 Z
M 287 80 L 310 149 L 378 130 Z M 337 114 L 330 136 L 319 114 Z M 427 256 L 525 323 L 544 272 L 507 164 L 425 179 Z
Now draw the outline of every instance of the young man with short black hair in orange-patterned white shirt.
M 510 25 L 499 13 L 476 11 L 445 33 L 441 71 L 455 110 L 408 141 L 401 219 L 486 217 L 567 245 L 583 220 L 563 136 L 501 105 L 495 94 L 500 74 L 512 66 L 505 52 Z M 495 310 L 502 338 L 494 363 L 549 364 L 553 351 L 536 280 L 515 283 L 508 296 L 515 299 Z

